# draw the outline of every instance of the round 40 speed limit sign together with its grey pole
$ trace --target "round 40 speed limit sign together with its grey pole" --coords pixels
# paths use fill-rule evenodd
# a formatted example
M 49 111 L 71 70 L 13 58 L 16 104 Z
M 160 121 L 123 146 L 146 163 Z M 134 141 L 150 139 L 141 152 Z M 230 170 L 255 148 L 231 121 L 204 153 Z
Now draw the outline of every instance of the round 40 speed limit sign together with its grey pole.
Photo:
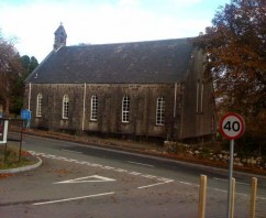
M 234 112 L 226 113 L 220 121 L 220 132 L 230 140 L 230 164 L 229 164 L 229 192 L 228 192 L 228 218 L 231 218 L 232 209 L 232 178 L 233 178 L 233 157 L 234 140 L 243 135 L 245 131 L 244 119 Z

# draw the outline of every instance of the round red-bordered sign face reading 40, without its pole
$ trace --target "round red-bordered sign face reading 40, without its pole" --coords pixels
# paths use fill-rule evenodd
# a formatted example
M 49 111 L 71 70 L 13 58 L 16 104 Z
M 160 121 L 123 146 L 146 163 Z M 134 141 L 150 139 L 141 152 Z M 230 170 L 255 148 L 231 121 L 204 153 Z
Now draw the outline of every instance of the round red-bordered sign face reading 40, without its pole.
M 244 119 L 237 113 L 229 112 L 220 121 L 220 131 L 226 139 L 239 139 L 244 133 Z

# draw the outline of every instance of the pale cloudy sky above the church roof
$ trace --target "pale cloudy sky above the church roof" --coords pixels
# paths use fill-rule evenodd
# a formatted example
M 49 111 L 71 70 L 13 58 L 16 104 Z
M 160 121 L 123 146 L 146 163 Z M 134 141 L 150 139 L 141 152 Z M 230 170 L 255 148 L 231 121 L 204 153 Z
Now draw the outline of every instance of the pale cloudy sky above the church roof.
M 0 1 L 0 29 L 16 37 L 21 55 L 41 62 L 53 48 L 59 23 L 67 45 L 197 36 L 230 0 L 8 0 Z

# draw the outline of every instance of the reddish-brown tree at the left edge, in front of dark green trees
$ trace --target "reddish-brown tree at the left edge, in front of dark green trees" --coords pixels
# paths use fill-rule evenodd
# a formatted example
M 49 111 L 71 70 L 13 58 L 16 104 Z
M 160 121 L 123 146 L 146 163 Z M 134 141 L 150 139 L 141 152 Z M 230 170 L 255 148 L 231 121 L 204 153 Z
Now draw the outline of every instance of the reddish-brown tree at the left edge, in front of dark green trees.
M 5 113 L 9 113 L 12 86 L 21 69 L 20 56 L 13 43 L 4 40 L 0 32 L 0 102 Z

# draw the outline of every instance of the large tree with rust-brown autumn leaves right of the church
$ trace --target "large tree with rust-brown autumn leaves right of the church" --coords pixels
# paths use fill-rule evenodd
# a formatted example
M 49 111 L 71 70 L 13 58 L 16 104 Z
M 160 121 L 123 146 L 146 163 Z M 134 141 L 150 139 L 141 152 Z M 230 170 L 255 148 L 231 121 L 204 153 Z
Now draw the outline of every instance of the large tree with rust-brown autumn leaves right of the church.
M 266 1 L 232 0 L 193 43 L 207 55 L 220 111 L 244 116 L 251 141 L 266 140 Z

